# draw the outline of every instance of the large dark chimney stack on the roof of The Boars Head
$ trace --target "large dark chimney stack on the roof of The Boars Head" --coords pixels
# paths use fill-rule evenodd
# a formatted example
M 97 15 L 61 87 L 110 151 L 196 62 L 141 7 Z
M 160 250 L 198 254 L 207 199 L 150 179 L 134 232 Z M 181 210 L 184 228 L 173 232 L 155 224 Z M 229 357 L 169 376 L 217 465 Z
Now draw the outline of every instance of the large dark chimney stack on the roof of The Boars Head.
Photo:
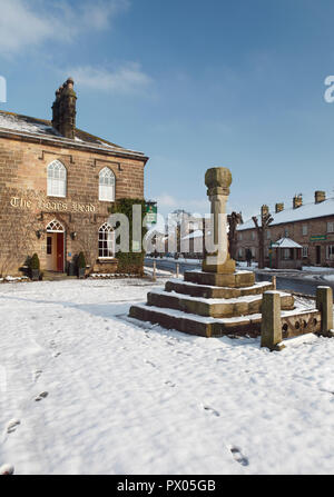
M 56 100 L 52 105 L 52 127 L 70 139 L 75 138 L 77 116 L 77 95 L 73 85 L 72 78 L 68 78 L 56 91 Z

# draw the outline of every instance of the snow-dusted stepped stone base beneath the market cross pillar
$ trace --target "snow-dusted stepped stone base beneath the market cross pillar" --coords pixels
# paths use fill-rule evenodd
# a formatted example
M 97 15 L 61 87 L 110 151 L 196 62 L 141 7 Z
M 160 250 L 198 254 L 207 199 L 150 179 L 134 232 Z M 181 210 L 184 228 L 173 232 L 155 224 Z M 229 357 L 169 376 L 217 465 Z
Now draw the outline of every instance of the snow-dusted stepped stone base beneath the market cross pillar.
M 147 305 L 132 306 L 129 316 L 202 337 L 257 337 L 263 292 L 272 289 L 271 282 L 255 284 L 250 271 L 188 271 L 184 280 L 171 279 L 165 290 L 150 291 Z M 279 294 L 283 315 L 295 315 L 293 296 Z

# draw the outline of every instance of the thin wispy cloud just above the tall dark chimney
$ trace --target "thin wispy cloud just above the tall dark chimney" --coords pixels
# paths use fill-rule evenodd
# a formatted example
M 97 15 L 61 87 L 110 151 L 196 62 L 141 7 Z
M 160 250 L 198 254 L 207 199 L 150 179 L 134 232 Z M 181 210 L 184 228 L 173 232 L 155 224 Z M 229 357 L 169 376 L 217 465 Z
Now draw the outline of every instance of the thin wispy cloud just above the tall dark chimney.
M 112 91 L 114 93 L 134 93 L 145 90 L 153 82 L 139 63 L 127 62 L 117 69 L 107 69 L 92 66 L 71 68 L 71 74 L 80 87 Z

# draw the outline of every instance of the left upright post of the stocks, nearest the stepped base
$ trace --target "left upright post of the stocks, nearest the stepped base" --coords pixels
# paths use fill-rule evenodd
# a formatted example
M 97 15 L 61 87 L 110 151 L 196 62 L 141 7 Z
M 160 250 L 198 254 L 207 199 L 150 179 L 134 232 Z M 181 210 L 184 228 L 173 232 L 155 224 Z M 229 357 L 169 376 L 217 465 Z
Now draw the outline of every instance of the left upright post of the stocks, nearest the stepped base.
M 281 342 L 281 295 L 275 290 L 265 291 L 262 300 L 261 346 L 271 350 L 282 350 L 285 346 Z

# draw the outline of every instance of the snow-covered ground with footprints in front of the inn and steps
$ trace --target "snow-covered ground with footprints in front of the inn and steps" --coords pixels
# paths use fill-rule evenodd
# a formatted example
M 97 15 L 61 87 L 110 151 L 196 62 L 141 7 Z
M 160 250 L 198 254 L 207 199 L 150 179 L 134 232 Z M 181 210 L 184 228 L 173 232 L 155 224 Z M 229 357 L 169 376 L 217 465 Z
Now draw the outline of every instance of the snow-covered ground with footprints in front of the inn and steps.
M 151 285 L 0 286 L 0 466 L 333 474 L 334 340 L 269 352 L 127 320 Z

